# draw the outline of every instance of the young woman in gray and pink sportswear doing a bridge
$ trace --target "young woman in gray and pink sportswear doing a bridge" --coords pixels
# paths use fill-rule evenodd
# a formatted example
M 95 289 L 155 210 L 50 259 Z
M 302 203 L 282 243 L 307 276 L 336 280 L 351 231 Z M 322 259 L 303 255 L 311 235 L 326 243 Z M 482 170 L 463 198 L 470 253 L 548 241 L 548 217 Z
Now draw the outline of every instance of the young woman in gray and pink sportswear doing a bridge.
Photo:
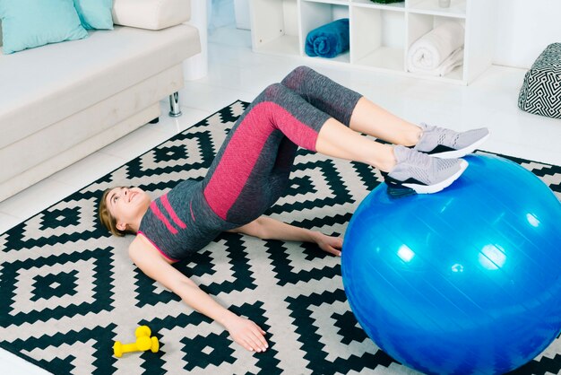
M 129 256 L 144 274 L 219 322 L 238 344 L 261 352 L 267 342 L 260 327 L 220 306 L 171 264 L 203 249 L 221 231 L 311 241 L 340 256 L 341 238 L 262 216 L 289 186 L 298 146 L 381 170 L 389 194 L 399 197 L 435 193 L 452 184 L 467 167 L 456 158 L 487 137 L 487 129 L 456 133 L 416 126 L 300 66 L 247 107 L 203 180 L 183 181 L 153 201 L 140 188 L 108 189 L 99 218 L 117 236 L 136 235 Z

